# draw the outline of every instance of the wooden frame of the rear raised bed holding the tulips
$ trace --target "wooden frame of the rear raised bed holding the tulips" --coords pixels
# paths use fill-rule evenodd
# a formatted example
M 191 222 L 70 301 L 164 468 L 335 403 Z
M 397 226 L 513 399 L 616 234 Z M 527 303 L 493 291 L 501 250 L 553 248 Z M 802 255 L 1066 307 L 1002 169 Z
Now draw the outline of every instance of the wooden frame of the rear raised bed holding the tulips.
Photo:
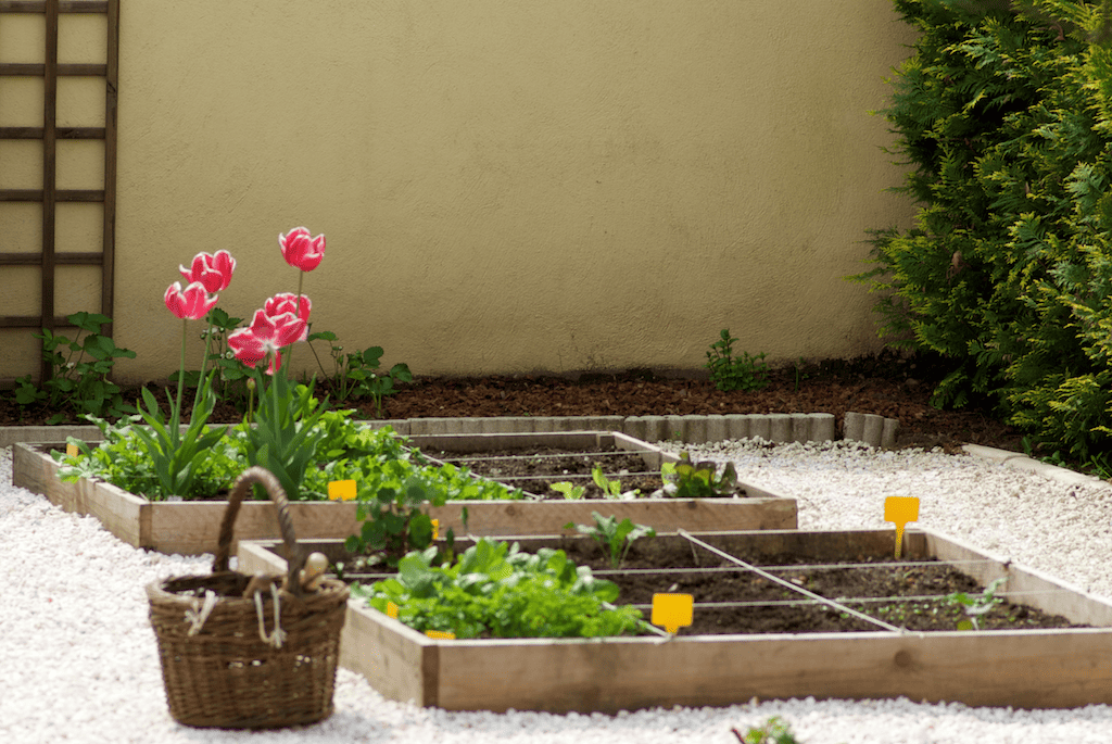
M 465 452 L 468 448 L 526 446 L 600 447 L 636 452 L 646 467 L 659 468 L 672 454 L 618 431 L 560 431 L 535 434 L 457 434 L 409 437 L 423 449 Z M 227 502 L 150 502 L 107 483 L 81 478 L 62 483 L 58 464 L 42 447 L 64 444 L 16 444 L 12 450 L 12 484 L 43 494 L 67 512 L 97 517 L 105 528 L 125 543 L 161 553 L 199 555 L 215 549 Z M 440 529 L 463 533 L 461 513 L 468 512 L 468 532 L 477 536 L 570 534 L 568 522 L 590 524 L 592 510 L 629 517 L 658 532 L 707 529 L 791 529 L 797 526 L 794 498 L 784 498 L 749 484 L 742 484 L 746 498 L 641 498 L 636 500 L 584 499 L 548 502 L 449 502 L 430 508 Z M 290 515 L 300 537 L 344 538 L 359 529 L 354 502 L 294 502 Z M 268 502 L 245 502 L 236 524 L 237 539 L 278 537 Z

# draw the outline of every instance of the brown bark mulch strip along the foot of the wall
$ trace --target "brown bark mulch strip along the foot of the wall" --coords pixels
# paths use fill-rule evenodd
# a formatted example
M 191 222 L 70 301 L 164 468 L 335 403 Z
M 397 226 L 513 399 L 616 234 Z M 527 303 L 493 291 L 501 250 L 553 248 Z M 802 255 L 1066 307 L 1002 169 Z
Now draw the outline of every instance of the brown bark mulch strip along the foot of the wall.
M 838 431 L 846 411 L 877 414 L 900 420 L 900 444 L 943 446 L 965 443 L 1022 452 L 1022 433 L 986 408 L 943 410 L 931 405 L 931 391 L 945 373 L 937 359 L 905 358 L 891 353 L 853 360 L 827 360 L 771 373 L 770 385 L 755 391 L 723 393 L 703 373 L 687 377 L 648 370 L 616 374 L 492 375 L 467 378 L 421 378 L 400 385 L 385 403 L 385 418 L 464 416 L 646 416 L 686 414 L 834 414 Z M 327 384 L 318 386 L 327 391 Z M 165 399 L 161 388 L 153 388 Z M 138 387 L 125 400 L 139 397 Z M 369 400 L 348 400 L 375 417 Z M 24 409 L 0 394 L 0 426 L 41 425 L 56 411 Z M 85 423 L 72 411 L 67 423 Z M 220 404 L 214 420 L 235 421 L 242 414 Z

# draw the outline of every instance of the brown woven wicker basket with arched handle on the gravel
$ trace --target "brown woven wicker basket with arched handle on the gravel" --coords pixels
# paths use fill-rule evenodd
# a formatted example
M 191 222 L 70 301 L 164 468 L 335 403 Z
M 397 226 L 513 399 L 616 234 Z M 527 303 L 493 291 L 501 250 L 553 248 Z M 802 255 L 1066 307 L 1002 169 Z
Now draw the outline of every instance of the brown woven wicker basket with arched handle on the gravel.
M 289 573 L 286 588 L 278 588 L 279 576 L 245 597 L 252 577 L 228 571 L 228 554 L 239 504 L 256 483 L 278 509 Z M 228 498 L 212 575 L 147 586 L 175 720 L 199 727 L 278 728 L 331 714 L 348 589 L 326 579 L 318 591 L 302 592 L 297 579 L 304 564 L 286 494 L 268 470 L 249 468 Z

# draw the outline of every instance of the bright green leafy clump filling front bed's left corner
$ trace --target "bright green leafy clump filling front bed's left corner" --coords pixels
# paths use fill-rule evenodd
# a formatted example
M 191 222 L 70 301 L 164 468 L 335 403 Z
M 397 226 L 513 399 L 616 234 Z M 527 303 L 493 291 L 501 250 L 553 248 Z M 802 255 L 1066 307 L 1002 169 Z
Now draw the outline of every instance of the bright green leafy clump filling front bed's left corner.
M 353 594 L 417 631 L 453 633 L 457 638 L 600 637 L 633 634 L 642 614 L 609 607 L 618 588 L 576 567 L 563 550 L 522 553 L 518 545 L 480 539 L 447 566 L 434 566 L 435 547 L 398 562 L 397 578 Z

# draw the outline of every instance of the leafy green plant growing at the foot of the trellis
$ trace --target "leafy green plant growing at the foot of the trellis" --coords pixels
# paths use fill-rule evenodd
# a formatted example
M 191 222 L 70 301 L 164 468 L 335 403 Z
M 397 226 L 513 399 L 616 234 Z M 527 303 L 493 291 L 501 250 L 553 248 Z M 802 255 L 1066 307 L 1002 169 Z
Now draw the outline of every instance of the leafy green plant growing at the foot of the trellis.
M 51 409 L 71 407 L 79 414 L 111 416 L 115 418 L 136 413 L 123 403 L 120 388 L 110 379 L 116 359 L 133 359 L 135 351 L 116 346 L 109 336 L 101 336 L 101 326 L 111 318 L 99 313 L 75 313 L 67 316 L 78 329 L 70 340 L 49 328 L 43 328 L 34 338 L 42 339 L 42 358 L 50 363 L 51 374 L 40 386 L 31 381 L 31 376 L 16 380 L 16 403 L 21 406 L 44 404 Z M 86 336 L 81 338 L 81 331 Z M 56 413 L 48 424 L 64 420 L 66 413 Z

